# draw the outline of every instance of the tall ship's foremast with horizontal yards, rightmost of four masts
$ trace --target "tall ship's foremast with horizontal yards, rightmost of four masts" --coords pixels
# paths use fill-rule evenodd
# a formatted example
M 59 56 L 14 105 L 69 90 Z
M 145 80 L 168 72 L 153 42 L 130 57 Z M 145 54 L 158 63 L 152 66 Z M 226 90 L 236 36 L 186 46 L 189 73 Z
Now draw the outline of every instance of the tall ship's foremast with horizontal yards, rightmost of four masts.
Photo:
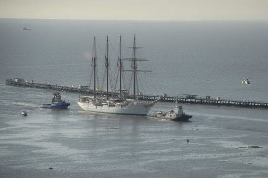
M 148 61 L 146 58 L 137 58 L 136 56 L 136 50 L 143 47 L 136 47 L 136 35 L 134 35 L 134 42 L 133 47 L 130 47 L 133 49 L 133 58 L 124 58 L 124 60 L 131 61 L 131 70 L 123 70 L 123 71 L 132 71 L 133 73 L 133 99 L 136 99 L 136 78 L 137 78 L 137 72 L 152 72 L 152 71 L 144 71 L 144 70 L 137 70 L 137 61 Z

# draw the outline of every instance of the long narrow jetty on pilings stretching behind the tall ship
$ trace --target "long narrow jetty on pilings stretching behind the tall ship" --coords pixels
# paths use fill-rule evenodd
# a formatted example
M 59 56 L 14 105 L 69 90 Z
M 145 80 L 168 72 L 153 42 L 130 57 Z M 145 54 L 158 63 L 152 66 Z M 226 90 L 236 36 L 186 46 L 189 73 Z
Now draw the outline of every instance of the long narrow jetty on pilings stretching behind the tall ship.
M 39 88 L 39 89 L 47 89 L 47 90 L 57 90 L 63 92 L 70 93 L 79 93 L 85 95 L 93 95 L 94 90 L 89 89 L 87 86 L 63 86 L 57 84 L 50 83 L 39 83 L 34 82 L 33 80 L 27 81 L 21 78 L 13 78 L 7 79 L 6 85 L 18 86 L 18 87 L 29 87 L 29 88 Z M 106 91 L 98 90 L 96 91 L 97 95 L 104 96 L 107 95 Z M 110 96 L 117 97 L 119 93 L 109 92 Z M 133 98 L 132 94 L 124 93 L 125 98 Z M 138 95 L 138 99 L 140 100 L 156 100 L 160 97 L 160 95 Z M 177 102 L 179 103 L 192 103 L 192 104 L 204 104 L 204 105 L 225 105 L 225 106 L 240 106 L 240 107 L 249 107 L 249 108 L 268 108 L 268 102 L 261 101 L 248 101 L 248 100 L 229 100 L 222 99 L 220 97 L 210 98 L 210 96 L 206 96 L 205 98 L 198 97 L 198 95 L 192 94 L 183 94 L 178 96 L 166 96 L 161 101 L 163 102 Z

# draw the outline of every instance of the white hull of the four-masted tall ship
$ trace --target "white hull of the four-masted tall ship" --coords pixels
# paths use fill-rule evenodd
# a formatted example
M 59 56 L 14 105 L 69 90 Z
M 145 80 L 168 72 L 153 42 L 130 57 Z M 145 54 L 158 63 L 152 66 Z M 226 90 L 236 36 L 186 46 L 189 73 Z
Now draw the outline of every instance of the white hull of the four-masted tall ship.
M 77 104 L 84 110 L 91 112 L 112 113 L 112 114 L 125 114 L 125 115 L 147 115 L 151 106 L 145 106 L 145 104 L 127 105 L 122 107 L 109 107 L 95 106 L 86 102 L 79 102 Z

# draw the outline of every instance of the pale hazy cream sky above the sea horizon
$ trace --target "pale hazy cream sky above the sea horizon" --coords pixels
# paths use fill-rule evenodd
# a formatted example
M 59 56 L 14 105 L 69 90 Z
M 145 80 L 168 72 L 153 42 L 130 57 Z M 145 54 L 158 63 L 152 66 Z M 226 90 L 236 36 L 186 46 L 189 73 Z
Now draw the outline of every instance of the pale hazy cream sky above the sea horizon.
M 268 0 L 0 0 L 0 18 L 268 20 Z

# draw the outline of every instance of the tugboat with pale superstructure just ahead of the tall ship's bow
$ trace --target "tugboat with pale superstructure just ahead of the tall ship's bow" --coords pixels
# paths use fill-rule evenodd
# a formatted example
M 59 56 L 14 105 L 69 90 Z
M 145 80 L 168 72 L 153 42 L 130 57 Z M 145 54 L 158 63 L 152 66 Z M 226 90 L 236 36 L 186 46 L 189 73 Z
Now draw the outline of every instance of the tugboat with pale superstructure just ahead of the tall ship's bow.
M 166 120 L 172 120 L 172 121 L 188 121 L 189 118 L 192 118 L 192 115 L 185 114 L 183 111 L 183 106 L 178 105 L 177 103 L 176 103 L 173 110 L 171 110 L 169 112 L 161 112 L 160 111 L 155 116 L 159 117 L 159 118 L 164 118 Z

